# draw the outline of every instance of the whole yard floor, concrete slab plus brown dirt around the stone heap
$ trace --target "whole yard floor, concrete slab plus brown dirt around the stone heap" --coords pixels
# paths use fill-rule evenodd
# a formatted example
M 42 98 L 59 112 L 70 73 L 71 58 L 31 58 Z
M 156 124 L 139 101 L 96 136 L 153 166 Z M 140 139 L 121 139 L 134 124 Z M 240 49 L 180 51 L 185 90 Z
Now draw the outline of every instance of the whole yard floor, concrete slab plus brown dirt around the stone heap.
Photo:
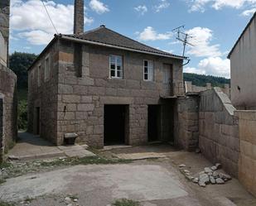
M 140 201 L 142 206 L 254 206 L 256 200 L 238 180 L 200 188 L 185 179 L 178 165 L 186 164 L 199 172 L 210 162 L 203 156 L 175 151 L 170 146 L 137 146 L 101 151 L 99 155 L 154 153 L 160 159 L 136 160 L 126 165 L 77 165 L 7 180 L 0 186 L 0 197 L 7 201 L 36 198 L 28 205 L 104 206 L 114 199 Z M 67 203 L 67 196 L 77 202 Z M 24 204 L 21 204 L 24 205 Z

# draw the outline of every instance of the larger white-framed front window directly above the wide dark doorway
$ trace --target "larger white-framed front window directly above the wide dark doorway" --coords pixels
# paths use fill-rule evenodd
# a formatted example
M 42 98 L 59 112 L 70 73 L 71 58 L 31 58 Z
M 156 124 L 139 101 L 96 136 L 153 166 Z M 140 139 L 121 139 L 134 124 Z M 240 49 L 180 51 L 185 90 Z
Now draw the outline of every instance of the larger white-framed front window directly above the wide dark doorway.
M 120 55 L 109 56 L 110 78 L 123 78 L 123 58 Z

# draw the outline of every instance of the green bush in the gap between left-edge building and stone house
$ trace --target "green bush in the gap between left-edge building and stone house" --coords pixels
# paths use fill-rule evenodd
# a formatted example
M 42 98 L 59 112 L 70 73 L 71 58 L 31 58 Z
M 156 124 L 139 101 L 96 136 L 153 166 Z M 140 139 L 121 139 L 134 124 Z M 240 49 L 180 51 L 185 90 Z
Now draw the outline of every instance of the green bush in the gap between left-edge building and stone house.
M 27 130 L 27 100 L 20 100 L 17 105 L 17 127 Z

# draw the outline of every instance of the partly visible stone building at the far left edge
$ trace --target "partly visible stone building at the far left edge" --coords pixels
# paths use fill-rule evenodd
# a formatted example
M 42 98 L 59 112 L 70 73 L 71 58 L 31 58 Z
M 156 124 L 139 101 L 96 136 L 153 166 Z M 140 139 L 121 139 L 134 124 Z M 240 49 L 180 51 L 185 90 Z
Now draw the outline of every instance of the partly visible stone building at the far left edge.
M 0 2 L 0 162 L 17 137 L 17 77 L 8 69 L 10 1 Z

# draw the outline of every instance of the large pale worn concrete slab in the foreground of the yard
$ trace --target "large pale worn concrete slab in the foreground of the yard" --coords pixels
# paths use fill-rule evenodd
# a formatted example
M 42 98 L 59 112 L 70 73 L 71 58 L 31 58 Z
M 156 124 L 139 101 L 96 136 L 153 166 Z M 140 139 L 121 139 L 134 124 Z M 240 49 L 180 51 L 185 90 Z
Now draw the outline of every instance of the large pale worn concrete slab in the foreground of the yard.
M 122 198 L 149 201 L 187 195 L 175 175 L 159 165 L 77 165 L 36 178 L 24 175 L 0 185 L 0 197 L 8 201 L 70 193 L 83 196 L 90 206 Z

